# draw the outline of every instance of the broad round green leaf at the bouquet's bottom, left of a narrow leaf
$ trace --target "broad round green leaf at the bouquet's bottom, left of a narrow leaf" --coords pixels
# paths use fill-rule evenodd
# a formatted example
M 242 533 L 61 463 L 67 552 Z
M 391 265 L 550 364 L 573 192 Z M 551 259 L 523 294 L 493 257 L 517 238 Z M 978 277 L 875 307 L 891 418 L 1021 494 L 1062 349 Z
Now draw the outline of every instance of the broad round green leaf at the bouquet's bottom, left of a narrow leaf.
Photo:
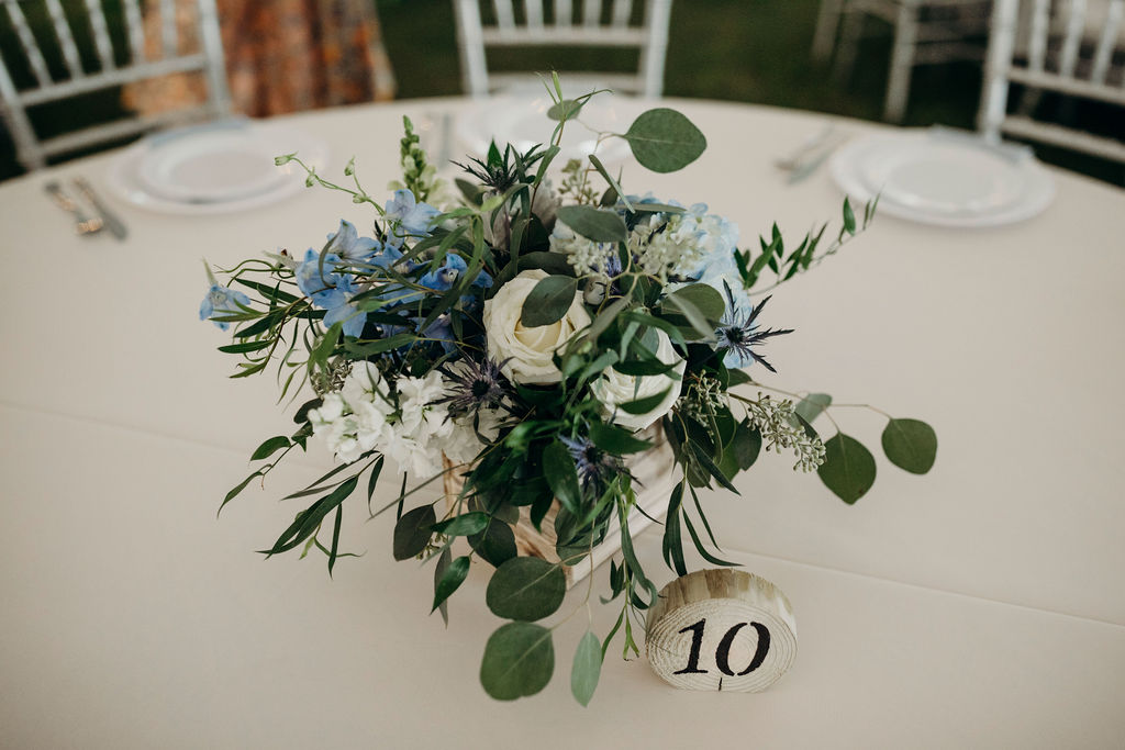
M 551 632 L 532 623 L 507 623 L 485 644 L 480 684 L 497 701 L 515 701 L 543 689 L 554 671 Z

